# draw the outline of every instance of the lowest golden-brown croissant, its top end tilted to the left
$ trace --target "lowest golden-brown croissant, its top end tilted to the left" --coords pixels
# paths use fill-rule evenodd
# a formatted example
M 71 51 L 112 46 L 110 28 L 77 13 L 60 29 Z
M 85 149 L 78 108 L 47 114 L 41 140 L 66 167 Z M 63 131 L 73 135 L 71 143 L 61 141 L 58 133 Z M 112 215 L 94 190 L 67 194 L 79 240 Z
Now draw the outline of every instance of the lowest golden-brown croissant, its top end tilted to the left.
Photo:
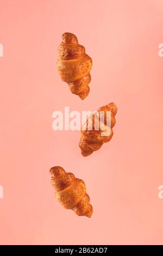
M 66 173 L 60 166 L 52 167 L 51 184 L 55 197 L 65 209 L 73 210 L 78 216 L 91 217 L 93 208 L 86 194 L 83 180 L 77 179 L 72 173 Z

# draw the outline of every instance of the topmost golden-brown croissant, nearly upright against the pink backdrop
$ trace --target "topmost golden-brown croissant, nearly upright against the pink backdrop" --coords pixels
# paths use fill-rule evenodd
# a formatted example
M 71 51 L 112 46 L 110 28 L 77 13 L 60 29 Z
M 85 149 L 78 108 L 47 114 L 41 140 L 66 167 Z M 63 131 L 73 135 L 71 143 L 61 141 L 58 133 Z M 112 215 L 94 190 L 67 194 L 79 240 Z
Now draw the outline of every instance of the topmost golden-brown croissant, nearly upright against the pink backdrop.
M 68 83 L 71 93 L 84 100 L 90 91 L 92 59 L 85 53 L 84 46 L 78 44 L 77 36 L 72 33 L 62 34 L 58 50 L 57 68 L 61 80 Z

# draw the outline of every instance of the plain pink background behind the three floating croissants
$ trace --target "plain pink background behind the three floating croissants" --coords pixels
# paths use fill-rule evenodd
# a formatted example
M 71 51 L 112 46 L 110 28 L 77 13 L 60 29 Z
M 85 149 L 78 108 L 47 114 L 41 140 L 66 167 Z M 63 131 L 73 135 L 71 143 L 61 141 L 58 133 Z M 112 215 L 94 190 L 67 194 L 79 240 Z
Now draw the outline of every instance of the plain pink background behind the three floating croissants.
M 162 0 L 0 0 L 0 243 L 162 244 Z M 61 34 L 92 57 L 84 100 L 60 80 Z M 114 101 L 111 142 L 83 157 L 79 131 L 53 131 L 52 113 Z M 82 178 L 91 219 L 55 200 L 48 170 Z

